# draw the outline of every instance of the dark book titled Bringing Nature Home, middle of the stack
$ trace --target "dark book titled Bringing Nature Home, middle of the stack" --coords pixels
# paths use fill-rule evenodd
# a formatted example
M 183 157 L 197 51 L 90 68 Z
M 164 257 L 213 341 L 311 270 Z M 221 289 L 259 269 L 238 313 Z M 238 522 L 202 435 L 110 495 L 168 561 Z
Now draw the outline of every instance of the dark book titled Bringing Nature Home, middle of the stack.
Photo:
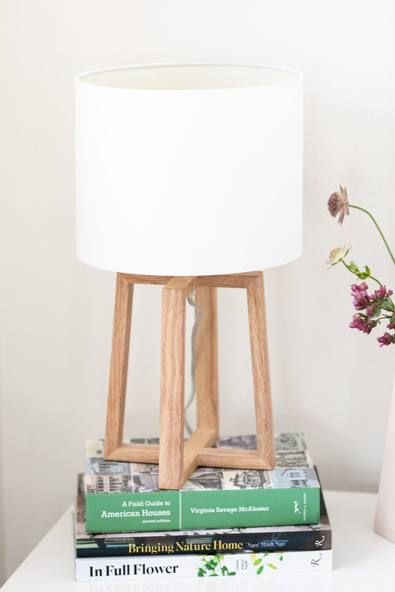
M 78 478 L 76 557 L 227 554 L 230 552 L 325 551 L 332 547 L 332 531 L 321 495 L 316 525 L 249 528 L 165 530 L 140 533 L 88 534 L 85 526 L 83 476 Z

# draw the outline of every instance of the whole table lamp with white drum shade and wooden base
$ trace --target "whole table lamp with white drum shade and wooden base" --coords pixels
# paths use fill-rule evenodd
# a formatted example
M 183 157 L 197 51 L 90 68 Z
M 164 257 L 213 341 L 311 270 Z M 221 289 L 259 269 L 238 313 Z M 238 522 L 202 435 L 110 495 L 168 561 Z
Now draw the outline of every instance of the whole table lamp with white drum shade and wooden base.
M 303 75 L 256 63 L 164 63 L 76 76 L 76 253 L 117 272 L 104 458 L 272 469 L 262 271 L 301 254 Z M 162 289 L 159 445 L 123 443 L 134 284 Z M 247 291 L 257 449 L 218 436 L 216 288 Z M 185 308 L 203 310 L 197 428 L 184 442 Z M 244 395 L 244 394 L 243 394 Z

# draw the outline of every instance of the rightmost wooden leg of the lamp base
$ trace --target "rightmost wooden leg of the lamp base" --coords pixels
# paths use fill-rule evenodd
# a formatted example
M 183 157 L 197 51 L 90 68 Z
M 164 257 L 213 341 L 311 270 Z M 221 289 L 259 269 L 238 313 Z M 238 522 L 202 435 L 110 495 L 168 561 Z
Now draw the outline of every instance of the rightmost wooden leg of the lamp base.
M 269 469 L 275 465 L 274 432 L 269 375 L 268 338 L 264 276 L 256 276 L 247 288 L 248 318 L 251 340 L 252 374 L 255 397 L 256 437 L 260 458 Z

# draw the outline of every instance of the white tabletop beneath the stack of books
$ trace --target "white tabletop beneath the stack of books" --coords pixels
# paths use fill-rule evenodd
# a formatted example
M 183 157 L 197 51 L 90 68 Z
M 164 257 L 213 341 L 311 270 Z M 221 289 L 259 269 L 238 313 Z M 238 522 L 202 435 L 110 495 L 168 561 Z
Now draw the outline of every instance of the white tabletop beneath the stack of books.
M 364 592 L 395 590 L 395 544 L 373 531 L 377 496 L 324 492 L 333 530 L 333 571 L 114 582 L 74 581 L 72 506 L 4 584 L 4 592 Z

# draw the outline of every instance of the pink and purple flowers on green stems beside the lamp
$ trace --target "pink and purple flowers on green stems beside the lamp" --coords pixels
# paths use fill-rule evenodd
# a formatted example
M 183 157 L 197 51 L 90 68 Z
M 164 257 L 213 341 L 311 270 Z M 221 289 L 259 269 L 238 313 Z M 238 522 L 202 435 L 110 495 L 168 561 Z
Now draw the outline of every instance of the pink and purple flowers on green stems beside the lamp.
M 349 208 L 361 210 L 370 216 L 395 265 L 395 259 L 391 253 L 391 249 L 374 217 L 370 212 L 364 210 L 364 208 L 360 208 L 358 205 L 349 204 L 346 188 L 341 186 L 340 192 L 336 191 L 332 193 L 327 202 L 327 207 L 330 215 L 333 217 L 336 217 L 336 215 L 339 214 L 338 224 L 343 224 L 345 216 L 349 215 Z M 382 348 L 383 345 L 395 343 L 395 306 L 391 300 L 393 291 L 390 289 L 387 290 L 385 285 L 381 284 L 377 278 L 374 278 L 367 265 L 365 265 L 364 268 L 359 269 L 354 261 L 346 263 L 345 258 L 350 249 L 351 247 L 348 245 L 332 249 L 329 253 L 329 260 L 326 262 L 329 264 L 328 269 L 332 268 L 334 265 L 338 265 L 338 263 L 343 263 L 349 272 L 357 276 L 358 279 L 363 280 L 359 285 L 351 285 L 353 304 L 355 310 L 358 312 L 352 317 L 349 327 L 351 327 L 351 329 L 358 329 L 358 331 L 362 331 L 362 333 L 369 334 L 374 327 L 381 324 L 381 321 L 385 321 L 389 332 L 386 331 L 383 335 L 377 337 L 377 341 L 380 343 L 380 348 Z M 371 279 L 378 284 L 379 288 L 375 289 L 373 294 L 368 294 L 368 285 L 365 282 L 365 279 Z

